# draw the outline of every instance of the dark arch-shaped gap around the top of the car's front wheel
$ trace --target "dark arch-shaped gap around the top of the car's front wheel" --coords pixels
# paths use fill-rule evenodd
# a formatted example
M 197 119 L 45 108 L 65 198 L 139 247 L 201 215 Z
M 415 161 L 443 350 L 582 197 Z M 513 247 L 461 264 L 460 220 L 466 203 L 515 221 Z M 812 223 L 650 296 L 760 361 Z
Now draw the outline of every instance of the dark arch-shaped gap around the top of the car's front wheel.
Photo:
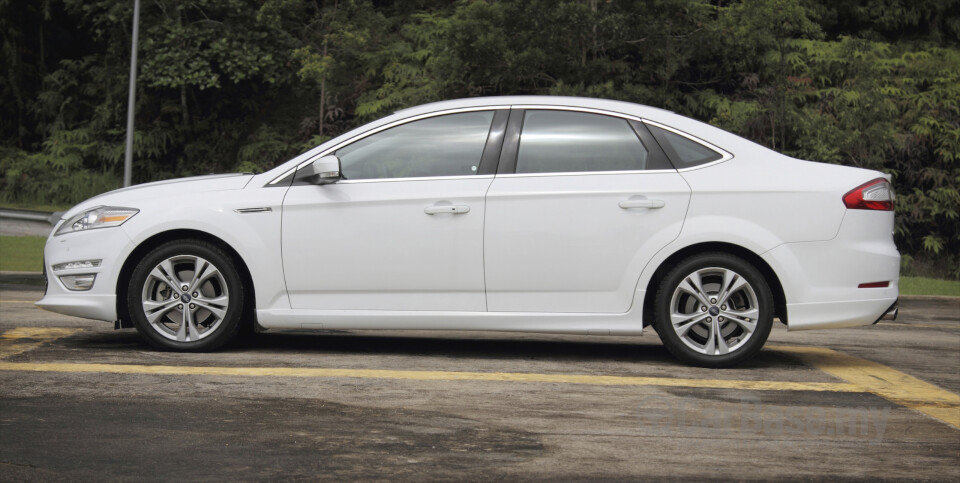
M 251 318 L 255 317 L 256 287 L 253 284 L 253 277 L 250 275 L 250 269 L 247 267 L 243 257 L 240 256 L 240 253 L 230 246 L 229 243 L 223 241 L 221 238 L 215 235 L 211 235 L 210 233 L 200 230 L 177 229 L 152 235 L 137 245 L 136 248 L 134 248 L 133 251 L 127 256 L 126 260 L 123 261 L 123 266 L 120 268 L 120 274 L 117 277 L 116 288 L 117 318 L 119 319 L 118 326 L 120 328 L 133 327 L 133 320 L 130 319 L 130 314 L 127 312 L 127 286 L 129 285 L 130 276 L 133 274 L 133 270 L 137 266 L 137 262 L 139 262 L 140 259 L 142 259 L 151 250 L 163 245 L 164 243 L 176 240 L 205 241 L 218 246 L 228 255 L 230 255 L 230 258 L 233 259 L 233 262 L 237 267 L 237 271 L 240 273 L 244 291 L 248 292 L 244 294 L 244 314 L 250 316 Z M 241 323 L 245 322 L 241 321 Z

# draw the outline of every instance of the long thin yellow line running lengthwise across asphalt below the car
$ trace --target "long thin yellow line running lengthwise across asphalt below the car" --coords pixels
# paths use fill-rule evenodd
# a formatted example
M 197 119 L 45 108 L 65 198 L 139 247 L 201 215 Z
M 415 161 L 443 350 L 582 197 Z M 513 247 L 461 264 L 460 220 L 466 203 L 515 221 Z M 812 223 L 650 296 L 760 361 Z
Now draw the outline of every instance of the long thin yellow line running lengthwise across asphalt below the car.
M 668 386 L 754 391 L 863 392 L 853 384 L 834 382 L 741 381 L 667 377 L 594 376 L 589 374 L 536 374 L 516 372 L 395 371 L 308 367 L 206 367 L 148 366 L 139 364 L 83 364 L 0 362 L 0 371 L 100 372 L 111 374 L 163 374 L 206 376 L 350 377 L 418 381 L 505 381 L 589 384 L 601 386 Z

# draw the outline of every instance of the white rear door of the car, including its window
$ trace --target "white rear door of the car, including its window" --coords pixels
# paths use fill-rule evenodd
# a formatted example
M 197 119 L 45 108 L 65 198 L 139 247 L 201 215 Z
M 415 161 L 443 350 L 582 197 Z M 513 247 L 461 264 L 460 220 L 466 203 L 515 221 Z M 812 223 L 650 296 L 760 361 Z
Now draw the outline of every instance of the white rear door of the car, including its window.
M 623 313 L 690 189 L 639 120 L 513 109 L 487 193 L 487 308 Z

